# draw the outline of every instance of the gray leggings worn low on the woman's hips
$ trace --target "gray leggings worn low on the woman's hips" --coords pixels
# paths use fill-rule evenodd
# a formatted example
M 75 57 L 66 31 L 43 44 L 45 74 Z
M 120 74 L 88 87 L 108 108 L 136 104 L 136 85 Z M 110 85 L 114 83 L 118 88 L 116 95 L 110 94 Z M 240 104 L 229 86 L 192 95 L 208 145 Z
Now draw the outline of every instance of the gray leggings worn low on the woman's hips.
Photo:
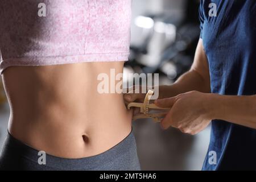
M 38 154 L 40 154 L 38 150 L 27 146 L 8 133 L 0 155 L 0 170 L 126 171 L 141 169 L 133 133 L 110 150 L 88 158 L 64 159 L 48 154 L 45 155 L 46 158 L 40 158 L 43 155 Z M 42 164 L 44 162 L 46 164 Z

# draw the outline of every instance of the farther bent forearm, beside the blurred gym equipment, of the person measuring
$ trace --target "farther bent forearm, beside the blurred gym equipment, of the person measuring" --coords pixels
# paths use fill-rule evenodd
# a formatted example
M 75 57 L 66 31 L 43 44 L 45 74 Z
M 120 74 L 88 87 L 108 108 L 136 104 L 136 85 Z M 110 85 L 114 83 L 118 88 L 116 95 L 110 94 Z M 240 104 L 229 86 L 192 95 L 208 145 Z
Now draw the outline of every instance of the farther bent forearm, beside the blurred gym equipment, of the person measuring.
M 192 90 L 203 93 L 210 92 L 209 81 L 204 80 L 204 78 L 193 69 L 184 73 L 173 85 L 159 86 L 159 98 L 174 97 Z

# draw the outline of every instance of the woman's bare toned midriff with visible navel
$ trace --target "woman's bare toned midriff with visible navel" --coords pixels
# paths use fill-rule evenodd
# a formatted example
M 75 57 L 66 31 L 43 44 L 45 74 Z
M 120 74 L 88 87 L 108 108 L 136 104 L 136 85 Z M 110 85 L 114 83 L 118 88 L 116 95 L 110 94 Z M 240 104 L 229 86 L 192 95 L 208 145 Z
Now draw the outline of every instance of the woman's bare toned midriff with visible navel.
M 129 135 L 132 117 L 122 94 L 98 93 L 97 77 L 106 73 L 110 79 L 110 69 L 122 73 L 123 61 L 7 68 L 9 132 L 62 158 L 109 150 Z

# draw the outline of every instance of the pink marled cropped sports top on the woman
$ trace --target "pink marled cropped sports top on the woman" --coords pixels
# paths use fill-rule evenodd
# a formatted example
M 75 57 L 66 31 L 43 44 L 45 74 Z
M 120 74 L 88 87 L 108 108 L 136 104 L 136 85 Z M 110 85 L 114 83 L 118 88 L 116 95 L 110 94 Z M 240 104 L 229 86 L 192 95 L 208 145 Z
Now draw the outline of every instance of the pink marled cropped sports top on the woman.
M 21 65 L 126 61 L 130 19 L 131 0 L 1 0 L 1 73 Z

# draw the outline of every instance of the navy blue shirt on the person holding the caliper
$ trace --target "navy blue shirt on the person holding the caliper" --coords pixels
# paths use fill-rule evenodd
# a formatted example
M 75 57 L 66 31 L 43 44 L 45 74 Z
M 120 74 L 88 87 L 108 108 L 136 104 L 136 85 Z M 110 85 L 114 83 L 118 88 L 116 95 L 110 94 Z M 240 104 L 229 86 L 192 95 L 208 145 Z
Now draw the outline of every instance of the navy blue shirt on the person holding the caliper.
M 210 3 L 216 4 L 217 16 L 209 15 Z M 212 93 L 256 94 L 256 1 L 201 0 L 199 10 Z M 256 130 L 214 120 L 203 170 L 229 169 L 256 170 Z

